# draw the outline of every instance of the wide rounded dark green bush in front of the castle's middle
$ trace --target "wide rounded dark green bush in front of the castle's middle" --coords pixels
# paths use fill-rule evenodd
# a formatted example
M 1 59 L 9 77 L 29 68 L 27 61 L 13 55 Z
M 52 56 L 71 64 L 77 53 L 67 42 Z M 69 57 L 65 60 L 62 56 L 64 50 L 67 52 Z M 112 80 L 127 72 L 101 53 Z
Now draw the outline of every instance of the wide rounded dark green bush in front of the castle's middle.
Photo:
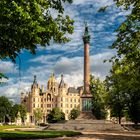
M 65 114 L 59 108 L 53 108 L 47 116 L 49 123 L 56 123 L 62 120 L 65 120 Z

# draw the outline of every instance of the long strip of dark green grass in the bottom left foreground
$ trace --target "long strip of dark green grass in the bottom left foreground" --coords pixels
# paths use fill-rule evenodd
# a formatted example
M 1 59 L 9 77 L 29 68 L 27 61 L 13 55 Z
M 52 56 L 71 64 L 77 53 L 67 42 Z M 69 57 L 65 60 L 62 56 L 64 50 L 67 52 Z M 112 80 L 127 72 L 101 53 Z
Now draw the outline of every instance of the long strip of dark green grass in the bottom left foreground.
M 62 136 L 80 135 L 80 132 L 73 131 L 0 131 L 0 138 L 19 139 L 19 138 L 54 138 Z

